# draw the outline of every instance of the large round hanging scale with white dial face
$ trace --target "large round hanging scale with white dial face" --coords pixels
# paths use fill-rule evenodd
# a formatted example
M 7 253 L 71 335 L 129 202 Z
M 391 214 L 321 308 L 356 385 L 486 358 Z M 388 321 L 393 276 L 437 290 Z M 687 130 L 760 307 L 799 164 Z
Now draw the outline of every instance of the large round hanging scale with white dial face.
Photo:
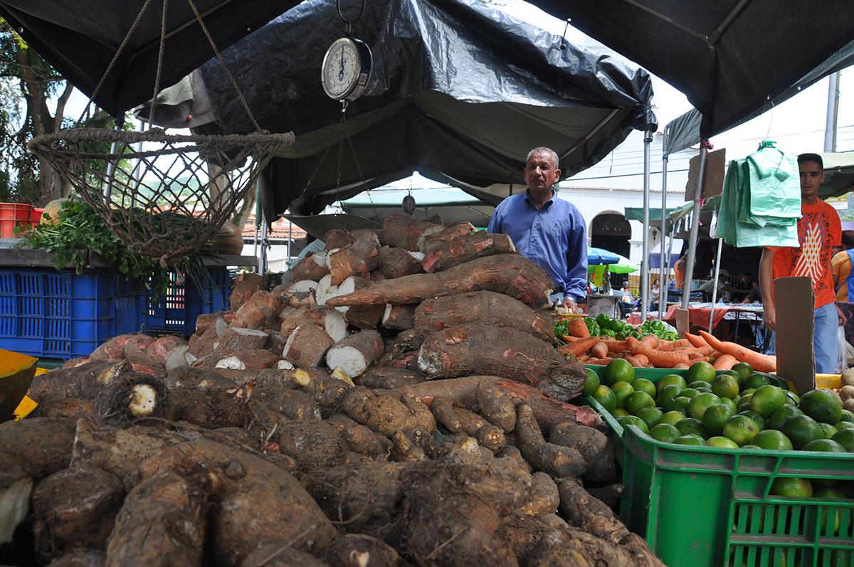
M 371 50 L 359 39 L 336 39 L 326 51 L 320 82 L 335 100 L 354 100 L 367 85 L 371 74 Z

